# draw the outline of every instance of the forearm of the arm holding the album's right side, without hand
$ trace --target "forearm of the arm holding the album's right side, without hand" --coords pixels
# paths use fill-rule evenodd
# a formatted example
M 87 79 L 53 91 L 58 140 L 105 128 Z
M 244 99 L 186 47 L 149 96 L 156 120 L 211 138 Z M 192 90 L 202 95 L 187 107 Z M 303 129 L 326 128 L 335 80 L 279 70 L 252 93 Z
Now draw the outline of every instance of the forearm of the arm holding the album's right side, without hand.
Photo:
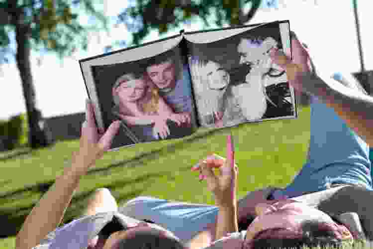
M 358 90 L 350 89 L 334 79 L 303 74 L 302 81 L 305 91 L 333 108 L 350 128 L 361 136 L 368 144 L 373 144 L 373 98 L 368 95 L 354 94 Z M 330 86 L 333 86 L 330 87 Z M 361 96 L 361 97 L 358 97 Z

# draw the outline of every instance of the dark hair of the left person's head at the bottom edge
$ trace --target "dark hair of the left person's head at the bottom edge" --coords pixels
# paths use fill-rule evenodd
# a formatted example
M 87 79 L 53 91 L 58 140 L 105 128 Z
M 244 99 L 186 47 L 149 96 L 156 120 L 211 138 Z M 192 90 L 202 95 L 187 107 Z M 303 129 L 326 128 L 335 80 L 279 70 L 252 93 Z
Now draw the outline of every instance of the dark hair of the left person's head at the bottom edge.
M 186 249 L 175 238 L 162 237 L 157 232 L 137 232 L 136 236 L 123 239 L 118 244 L 118 249 Z

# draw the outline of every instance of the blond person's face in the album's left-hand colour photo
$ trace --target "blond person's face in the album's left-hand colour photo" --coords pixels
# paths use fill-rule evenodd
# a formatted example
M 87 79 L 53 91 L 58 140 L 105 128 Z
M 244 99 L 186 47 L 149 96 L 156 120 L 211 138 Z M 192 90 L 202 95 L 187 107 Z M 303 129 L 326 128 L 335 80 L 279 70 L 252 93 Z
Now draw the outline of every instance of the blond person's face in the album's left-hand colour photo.
M 142 79 L 129 80 L 116 88 L 116 94 L 122 102 L 135 102 L 143 98 L 146 82 Z

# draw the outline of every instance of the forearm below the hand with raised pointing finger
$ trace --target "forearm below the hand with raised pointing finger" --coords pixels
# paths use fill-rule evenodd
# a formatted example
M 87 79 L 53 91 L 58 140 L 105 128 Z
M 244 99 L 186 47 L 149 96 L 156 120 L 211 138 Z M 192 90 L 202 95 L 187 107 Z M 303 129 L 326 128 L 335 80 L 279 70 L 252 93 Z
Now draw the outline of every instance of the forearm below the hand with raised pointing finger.
M 215 240 L 225 237 L 227 233 L 238 232 L 237 206 L 219 207 L 216 217 Z

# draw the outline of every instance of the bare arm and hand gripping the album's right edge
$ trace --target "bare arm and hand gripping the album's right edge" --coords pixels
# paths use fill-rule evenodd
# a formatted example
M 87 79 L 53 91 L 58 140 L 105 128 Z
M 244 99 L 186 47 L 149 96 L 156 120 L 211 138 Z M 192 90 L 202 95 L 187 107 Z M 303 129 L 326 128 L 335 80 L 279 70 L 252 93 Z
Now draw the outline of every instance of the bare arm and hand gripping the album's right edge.
M 296 37 L 292 37 L 291 44 L 293 60 L 276 49 L 271 51 L 275 63 L 286 70 L 290 85 L 318 97 L 368 144 L 373 144 L 373 98 L 315 72 L 311 57 Z

